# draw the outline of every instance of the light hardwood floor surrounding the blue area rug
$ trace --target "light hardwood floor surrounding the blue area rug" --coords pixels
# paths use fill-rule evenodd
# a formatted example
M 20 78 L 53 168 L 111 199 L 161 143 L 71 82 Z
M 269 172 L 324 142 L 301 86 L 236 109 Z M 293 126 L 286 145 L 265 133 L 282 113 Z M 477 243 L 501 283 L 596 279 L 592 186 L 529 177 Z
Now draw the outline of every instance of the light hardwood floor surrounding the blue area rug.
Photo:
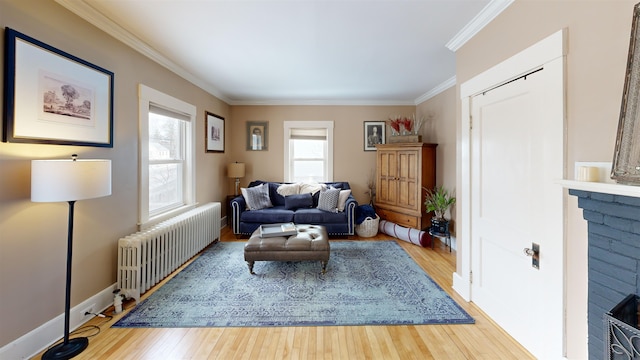
M 364 240 L 389 238 L 388 235 L 378 234 Z M 360 238 L 352 236 L 350 239 Z M 221 241 L 246 239 L 236 239 L 231 229 L 226 227 L 222 229 Z M 99 331 L 94 328 L 78 335 L 90 336 L 89 347 L 74 359 L 533 359 L 531 354 L 488 319 L 473 303 L 465 302 L 451 289 L 456 262 L 455 252 L 450 253 L 439 241 L 436 241 L 435 250 L 421 248 L 402 240 L 397 241 L 475 318 L 475 324 L 111 328 L 110 326 L 122 317 L 125 311 L 112 319 L 94 318 L 90 321 L 87 325 L 99 327 Z M 155 289 L 157 287 L 145 293 L 143 299 Z M 132 306 L 130 303 L 125 305 L 127 309 Z M 107 309 L 104 314 L 111 315 L 112 311 L 113 308 Z M 93 334 L 96 335 L 92 336 Z M 71 338 L 73 337 L 72 334 Z M 34 359 L 40 359 L 41 355 Z

